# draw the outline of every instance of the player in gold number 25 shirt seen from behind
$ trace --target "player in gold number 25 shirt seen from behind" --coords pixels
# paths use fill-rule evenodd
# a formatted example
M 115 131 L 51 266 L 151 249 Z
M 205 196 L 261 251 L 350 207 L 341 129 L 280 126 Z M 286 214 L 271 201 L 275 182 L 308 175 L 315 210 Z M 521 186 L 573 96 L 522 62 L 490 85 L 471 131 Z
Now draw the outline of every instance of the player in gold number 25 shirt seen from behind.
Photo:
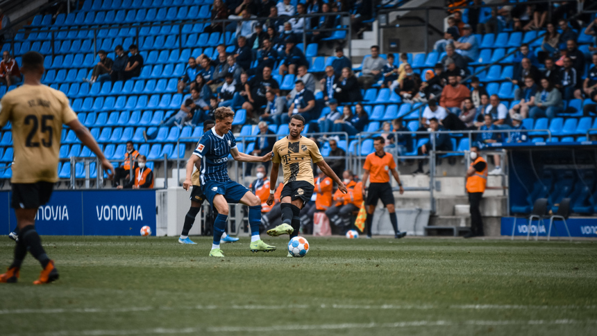
M 8 272 L 0 274 L 0 283 L 16 283 L 19 269 L 27 251 L 42 264 L 42 273 L 33 284 L 51 283 L 58 279 L 53 260 L 42 247 L 35 231 L 37 208 L 50 200 L 53 186 L 58 182 L 58 154 L 62 124 L 73 130 L 83 145 L 94 152 L 101 166 L 111 178 L 114 168 L 103 156 L 93 136 L 78 121 L 62 92 L 42 85 L 44 56 L 36 51 L 23 55 L 21 72 L 23 85 L 14 89 L 0 101 L 0 127 L 12 123 L 12 147 L 15 163 L 12 169 L 11 206 L 17 216 L 19 240 L 15 246 L 15 259 Z M 74 172 L 73 172 L 74 173 Z

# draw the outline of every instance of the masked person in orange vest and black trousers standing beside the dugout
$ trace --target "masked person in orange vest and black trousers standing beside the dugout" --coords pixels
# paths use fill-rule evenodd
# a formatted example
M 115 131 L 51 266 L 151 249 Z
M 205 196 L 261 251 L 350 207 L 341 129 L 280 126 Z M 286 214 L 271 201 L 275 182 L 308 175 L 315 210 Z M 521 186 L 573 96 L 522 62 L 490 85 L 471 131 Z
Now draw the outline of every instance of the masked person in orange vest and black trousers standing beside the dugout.
M 471 232 L 466 233 L 464 238 L 485 236 L 479 206 L 487 186 L 487 161 L 479 154 L 479 148 L 476 145 L 471 146 L 471 160 L 473 162 L 466 170 L 466 191 L 469 193 L 471 204 Z

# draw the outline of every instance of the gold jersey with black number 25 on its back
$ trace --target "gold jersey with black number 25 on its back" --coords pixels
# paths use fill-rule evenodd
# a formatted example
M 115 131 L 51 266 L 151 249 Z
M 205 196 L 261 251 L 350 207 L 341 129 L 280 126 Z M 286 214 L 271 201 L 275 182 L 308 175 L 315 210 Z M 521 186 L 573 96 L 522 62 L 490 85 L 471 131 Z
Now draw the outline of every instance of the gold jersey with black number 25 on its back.
M 62 92 L 22 85 L 0 101 L 0 127 L 12 123 L 12 183 L 58 182 L 62 125 L 77 118 Z

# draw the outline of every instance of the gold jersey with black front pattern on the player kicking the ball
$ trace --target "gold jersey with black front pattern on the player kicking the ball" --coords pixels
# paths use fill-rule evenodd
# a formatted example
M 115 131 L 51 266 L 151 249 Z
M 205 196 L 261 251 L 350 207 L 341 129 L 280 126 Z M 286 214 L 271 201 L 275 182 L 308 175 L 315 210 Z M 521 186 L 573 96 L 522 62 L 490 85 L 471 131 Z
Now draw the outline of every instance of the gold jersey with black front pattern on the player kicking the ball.
M 282 164 L 284 185 L 288 182 L 306 181 L 315 185 L 313 181 L 313 163 L 323 161 L 323 157 L 312 140 L 301 136 L 301 139 L 290 141 L 288 136 L 274 143 L 274 163 Z

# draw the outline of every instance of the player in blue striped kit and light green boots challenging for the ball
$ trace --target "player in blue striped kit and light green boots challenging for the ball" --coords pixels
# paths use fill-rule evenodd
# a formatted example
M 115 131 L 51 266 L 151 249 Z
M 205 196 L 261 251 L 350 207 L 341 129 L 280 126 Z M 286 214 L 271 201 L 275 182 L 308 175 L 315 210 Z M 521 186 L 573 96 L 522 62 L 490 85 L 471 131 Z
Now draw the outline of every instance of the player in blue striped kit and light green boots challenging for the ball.
M 214 242 L 210 256 L 224 256 L 220 249 L 220 239 L 226 228 L 226 220 L 228 220 L 228 202 L 249 206 L 249 224 L 251 225 L 249 249 L 252 252 L 274 251 L 276 247 L 267 245 L 259 236 L 261 200 L 253 195 L 248 188 L 231 180 L 228 177 L 227 167 L 228 154 L 231 154 L 236 161 L 267 162 L 271 160 L 271 152 L 262 157 L 253 157 L 239 152 L 234 136 L 230 132 L 234 120 L 233 110 L 230 107 L 218 107 L 214 116 L 216 125 L 201 136 L 199 145 L 187 162 L 187 177 L 183 183 L 183 188 L 188 191 L 192 186 L 193 166 L 196 165 L 201 172 L 201 188 L 205 198 L 218 211 L 214 222 Z

